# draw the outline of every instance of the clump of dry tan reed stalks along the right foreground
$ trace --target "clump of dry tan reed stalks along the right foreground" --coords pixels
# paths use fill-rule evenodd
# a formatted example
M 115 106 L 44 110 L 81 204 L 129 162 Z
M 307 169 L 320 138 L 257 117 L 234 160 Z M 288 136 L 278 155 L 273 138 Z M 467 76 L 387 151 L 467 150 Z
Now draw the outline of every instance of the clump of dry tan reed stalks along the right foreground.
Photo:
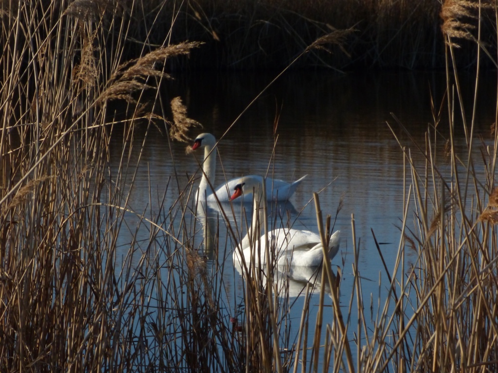
M 428 136 L 427 138 L 431 138 Z M 421 147 L 419 147 L 421 148 Z M 479 275 L 476 268 L 479 267 L 478 263 L 474 262 L 475 250 L 479 246 L 487 246 L 489 243 L 493 243 L 492 247 L 485 250 L 491 250 L 492 252 L 497 252 L 496 240 L 490 241 L 487 239 L 488 233 L 487 229 L 482 232 L 483 241 L 478 242 L 477 237 L 477 225 L 472 221 L 471 218 L 466 218 L 469 212 L 466 210 L 466 204 L 462 200 L 458 200 L 457 194 L 452 196 L 452 200 L 457 199 L 456 202 L 447 204 L 441 201 L 439 204 L 435 203 L 437 198 L 430 196 L 428 193 L 428 188 L 431 184 L 434 186 L 434 194 L 438 195 L 436 188 L 437 179 L 432 177 L 432 180 L 428 178 L 430 175 L 439 174 L 437 171 L 437 165 L 434 163 L 436 159 L 435 148 L 428 147 L 431 149 L 431 154 L 426 157 L 430 159 L 426 165 L 430 168 L 429 172 L 425 173 L 425 180 L 421 184 L 424 185 L 426 189 L 425 192 L 417 191 L 419 195 L 419 202 L 417 203 L 417 220 L 424 221 L 426 218 L 423 216 L 428 216 L 432 205 L 433 214 L 437 216 L 431 222 L 430 226 L 427 227 L 427 223 L 422 224 L 419 228 L 420 238 L 417 238 L 418 242 L 425 242 L 424 250 L 420 252 L 418 263 L 415 264 L 415 268 L 419 268 L 418 274 L 415 272 L 411 273 L 411 279 L 407 284 L 413 286 L 416 291 L 418 307 L 415 309 L 415 315 L 418 315 L 418 327 L 413 331 L 416 332 L 417 340 L 420 344 L 424 346 L 424 349 L 415 351 L 415 355 L 412 358 L 411 367 L 413 370 L 419 369 L 429 369 L 429 370 L 440 370 L 440 369 L 452 369 L 452 367 L 457 367 L 462 364 L 466 366 L 472 365 L 472 361 L 482 359 L 480 353 L 473 352 L 469 355 L 466 351 L 470 346 L 473 348 L 479 348 L 479 344 L 476 342 L 483 335 L 483 331 L 476 328 L 477 325 L 469 324 L 466 317 L 472 313 L 471 309 L 475 307 L 483 307 L 484 310 L 491 309 L 491 303 L 486 304 L 466 304 L 466 308 L 461 306 L 455 306 L 456 303 L 466 303 L 468 294 L 469 283 L 484 283 L 489 274 L 485 276 Z M 432 154 L 434 152 L 434 154 Z M 455 162 L 456 159 L 452 158 L 451 162 Z M 411 164 L 412 174 L 414 175 L 413 180 L 419 178 L 420 173 L 415 171 L 415 165 Z M 455 167 L 455 166 L 453 166 Z M 486 176 L 486 180 L 490 180 L 490 176 Z M 471 181 L 475 185 L 479 185 L 477 180 Z M 449 183 L 438 183 L 441 188 L 447 188 L 446 191 L 443 190 L 443 195 L 445 193 L 451 192 L 449 188 Z M 415 184 L 418 185 L 418 184 Z M 418 187 L 416 187 L 418 190 Z M 478 192 L 478 190 L 476 190 Z M 490 204 L 494 204 L 494 193 L 491 194 Z M 424 200 L 425 199 L 425 200 Z M 444 206 L 447 204 L 444 208 Z M 460 215 L 463 226 L 457 228 L 453 223 L 455 216 Z M 480 215 L 478 221 L 493 221 L 494 212 L 488 207 L 483 214 Z M 425 228 L 424 228 L 425 226 Z M 468 233 L 466 233 L 468 232 Z M 495 235 L 495 233 L 493 233 Z M 434 239 L 431 241 L 430 236 Z M 485 258 L 483 257 L 483 260 Z M 486 263 L 486 262 L 485 262 Z M 483 266 L 483 264 L 481 264 Z M 416 275 L 416 277 L 415 277 Z M 482 276 L 482 278 L 481 278 Z M 404 290 L 406 291 L 406 290 Z M 490 293 L 483 286 L 474 287 L 475 299 L 489 299 Z M 484 292 L 483 292 L 484 291 Z M 485 295 L 485 292 L 486 295 Z M 462 294 L 466 294 L 465 298 L 462 298 Z M 492 296 L 490 301 L 496 296 Z M 458 301 L 457 299 L 460 299 Z M 428 303 L 430 302 L 432 303 Z M 452 305 L 453 304 L 453 305 Z M 464 311 L 464 312 L 462 312 Z M 481 317 L 489 319 L 492 315 L 492 311 L 484 311 Z M 444 318 L 441 318 L 444 315 Z M 414 318 L 412 318 L 414 320 Z M 410 323 L 412 321 L 410 320 Z M 409 327 L 409 324 L 405 325 L 405 328 Z M 495 323 L 492 322 L 492 329 L 496 328 L 493 326 Z M 465 325 L 464 328 L 455 328 L 456 325 Z M 399 330 L 400 336 L 404 333 L 408 333 L 408 330 L 403 331 L 401 328 Z M 462 336 L 465 335 L 468 343 L 465 346 L 460 346 L 461 359 L 455 359 L 455 350 L 453 348 L 452 341 L 460 340 L 462 341 Z M 401 345 L 401 340 L 395 344 L 396 346 Z M 481 351 L 485 355 L 494 355 L 496 351 L 490 345 L 481 346 Z M 392 355 L 392 353 L 391 353 Z M 465 357 L 465 358 L 464 358 Z M 419 360 L 414 360 L 414 359 Z M 463 363 L 464 360 L 466 363 Z M 382 366 L 385 367 L 385 364 Z

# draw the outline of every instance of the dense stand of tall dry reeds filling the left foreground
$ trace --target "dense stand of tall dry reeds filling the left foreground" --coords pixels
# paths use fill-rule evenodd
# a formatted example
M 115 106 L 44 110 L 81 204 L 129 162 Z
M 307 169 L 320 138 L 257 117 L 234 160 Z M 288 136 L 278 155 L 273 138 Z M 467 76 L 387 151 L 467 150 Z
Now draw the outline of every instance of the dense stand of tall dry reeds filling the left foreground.
M 78 1 L 73 6 L 85 4 L 90 3 Z M 0 298 L 9 300 L 0 305 L 2 370 L 57 367 L 88 371 L 97 367 L 123 371 L 143 364 L 168 370 L 183 364 L 182 352 L 171 350 L 179 340 L 175 329 L 178 320 L 182 320 L 185 335 L 197 339 L 187 340 L 185 351 L 195 346 L 217 346 L 197 351 L 209 364 L 228 364 L 237 341 L 227 337 L 228 320 L 225 322 L 214 312 L 226 308 L 224 289 L 218 287 L 214 292 L 211 286 L 222 282 L 219 279 L 223 271 L 215 265 L 209 270 L 199 267 L 195 278 L 202 289 L 191 287 L 189 296 L 211 300 L 178 308 L 185 299 L 182 290 L 188 288 L 189 278 L 172 221 L 177 218 L 175 211 L 185 212 L 177 206 L 184 208 L 186 203 L 179 198 L 171 209 L 163 204 L 155 224 L 144 214 L 136 214 L 136 230 L 126 232 L 133 222 L 128 221 L 130 212 L 123 206 L 130 199 L 137 164 L 131 164 L 124 152 L 123 167 L 111 172 L 112 125 L 108 132 L 106 106 L 96 105 L 98 97 L 106 93 L 102 87 L 112 87 L 112 77 L 131 80 L 130 74 L 150 73 L 147 69 L 153 68 L 155 58 L 185 50 L 171 47 L 168 53 L 152 53 L 135 61 L 128 70 L 116 71 L 109 66 L 123 65 L 117 58 L 127 40 L 123 35 L 116 39 L 122 43 L 117 45 L 117 54 L 106 57 L 112 61 L 104 60 L 110 34 L 99 28 L 102 24 L 97 28 L 81 27 L 72 34 L 72 28 L 66 28 L 64 9 L 56 3 L 44 8 L 44 14 L 50 15 L 48 19 L 40 18 L 41 1 L 29 7 L 20 5 L 21 17 L 10 18 L 4 23 L 10 28 L 4 31 L 15 35 L 13 31 L 22 28 L 32 37 L 23 38 L 22 33 L 17 33 L 17 49 L 6 49 L 7 53 L 0 57 L 1 65 L 10 67 L 3 70 L 4 84 L 0 88 L 0 162 L 2 166 L 6 162 L 9 165 L 0 166 Z M 97 13 L 89 14 L 93 17 Z M 89 14 L 86 20 L 91 20 Z M 50 19 L 62 21 L 52 24 Z M 121 22 L 123 29 L 129 26 L 125 18 Z M 25 64 L 17 64 L 19 55 Z M 130 83 L 124 83 L 129 89 Z M 114 93 L 126 98 L 125 88 Z M 17 89 L 26 93 L 29 103 L 16 98 Z M 135 120 L 123 122 L 124 141 L 130 144 L 134 142 Z M 80 128 L 83 130 L 77 130 Z M 11 135 L 13 131 L 17 137 Z M 144 146 L 142 143 L 140 152 Z M 29 194 L 32 198 L 27 198 Z M 186 218 L 179 220 L 185 236 L 195 232 Z M 168 226 L 168 234 L 161 225 Z M 144 229 L 151 232 L 145 244 L 139 237 Z M 127 233 L 129 250 L 123 251 L 121 245 Z M 165 263 L 164 258 L 169 262 Z M 166 267 L 170 269 L 166 275 L 170 281 L 163 283 L 159 274 Z M 157 303 L 163 308 L 158 308 Z M 171 311 L 175 307 L 176 315 Z M 196 319 L 185 317 L 195 313 L 199 316 Z M 157 315 L 157 319 L 151 315 Z M 151 318 L 154 321 L 149 324 Z M 205 329 L 199 329 L 200 324 Z M 148 325 L 155 325 L 150 330 L 155 330 L 156 345 L 149 344 L 152 335 Z M 188 334 L 192 330 L 208 334 Z M 140 348 L 145 345 L 147 349 Z M 225 351 L 226 359 L 220 357 L 219 348 Z M 232 364 L 236 366 L 237 362 Z

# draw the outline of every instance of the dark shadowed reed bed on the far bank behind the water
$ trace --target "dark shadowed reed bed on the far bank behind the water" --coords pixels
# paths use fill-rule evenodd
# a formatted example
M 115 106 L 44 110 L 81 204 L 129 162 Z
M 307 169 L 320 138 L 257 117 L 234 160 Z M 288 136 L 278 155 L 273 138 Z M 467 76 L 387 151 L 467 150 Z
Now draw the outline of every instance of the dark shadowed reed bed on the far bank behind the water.
M 108 3 L 107 1 L 98 1 Z M 459 1 L 453 1 L 458 3 Z M 475 14 L 478 1 L 472 3 Z M 494 2 L 482 1 L 482 41 L 496 54 Z M 334 0 L 334 1 L 121 1 L 117 12 L 129 14 L 126 30 L 131 43 L 128 58 L 141 55 L 143 45 L 154 49 L 165 35 L 171 43 L 197 40 L 206 47 L 184 59 L 171 61 L 178 69 L 277 69 L 286 67 L 315 39 L 334 30 L 356 30 L 347 46 L 333 53 L 315 51 L 294 67 L 340 71 L 381 69 L 443 69 L 442 1 Z M 102 6 L 102 5 L 101 5 Z M 468 23 L 466 19 L 463 23 Z M 120 32 L 117 24 L 109 24 Z M 168 33 L 168 30 L 171 30 Z M 113 41 L 109 41 L 111 44 Z M 465 53 L 455 58 L 461 68 L 476 66 L 472 41 L 461 43 Z M 491 61 L 483 67 L 494 68 Z

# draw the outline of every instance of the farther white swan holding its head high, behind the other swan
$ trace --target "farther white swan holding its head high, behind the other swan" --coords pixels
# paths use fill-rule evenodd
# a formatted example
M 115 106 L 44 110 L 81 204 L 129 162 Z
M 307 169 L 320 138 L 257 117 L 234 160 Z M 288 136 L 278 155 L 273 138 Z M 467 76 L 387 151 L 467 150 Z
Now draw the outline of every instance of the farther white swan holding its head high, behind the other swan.
M 213 148 L 215 147 L 215 145 L 216 138 L 210 133 L 200 134 L 194 140 L 194 145 L 192 145 L 193 150 L 204 147 L 204 173 L 202 175 L 198 191 L 200 192 L 199 200 L 203 202 L 216 202 L 213 190 L 211 189 L 211 187 L 209 187 L 209 183 L 206 179 L 207 176 L 209 181 L 211 182 L 211 185 L 214 185 L 216 172 L 216 149 L 213 150 Z M 251 177 L 258 178 L 259 182 L 262 182 L 263 180 L 261 176 L 253 175 Z M 294 192 L 296 191 L 296 187 L 301 184 L 305 177 L 306 175 L 290 184 L 282 180 L 266 178 L 266 199 L 268 201 L 286 201 L 292 194 L 294 194 Z M 240 184 L 240 180 L 241 178 L 232 179 L 216 188 L 216 195 L 221 202 L 230 201 L 230 193 L 234 190 L 234 187 L 237 184 Z M 244 199 L 246 201 L 252 200 L 252 192 L 245 195 Z

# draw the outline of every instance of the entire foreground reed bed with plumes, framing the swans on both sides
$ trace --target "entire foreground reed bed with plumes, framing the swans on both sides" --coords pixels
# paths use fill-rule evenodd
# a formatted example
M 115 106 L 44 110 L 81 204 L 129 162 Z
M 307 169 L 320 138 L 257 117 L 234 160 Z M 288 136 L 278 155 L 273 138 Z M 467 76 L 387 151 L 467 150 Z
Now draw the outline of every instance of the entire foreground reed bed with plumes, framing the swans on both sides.
M 379 273 L 379 294 L 387 288 L 387 295 L 369 302 L 362 292 L 353 216 L 353 292 L 342 294 L 337 274 L 324 263 L 303 289 L 305 306 L 296 322 L 287 279 L 275 279 L 271 265 L 268 272 L 244 269 L 240 303 L 227 301 L 224 263 L 240 242 L 240 228 L 229 223 L 232 211 L 208 223 L 192 202 L 194 178 L 182 185 L 172 176 L 160 190 L 148 186 L 157 209 L 131 207 L 150 128 L 162 130 L 170 110 L 159 95 L 152 103 L 147 95 L 146 105 L 146 92 L 158 92 L 170 78 L 164 66 L 174 67 L 171 60 L 188 56 L 199 43 L 161 41 L 128 59 L 138 17 L 134 3 L 12 2 L 8 9 L 6 3 L 0 57 L 2 372 L 483 372 L 497 365 L 498 135 L 482 139 L 482 156 L 475 159 L 477 97 L 465 113 L 456 68 L 464 42 L 478 51 L 476 86 L 480 61 L 497 64 L 482 43 L 485 18 L 474 18 L 486 12 L 496 20 L 496 8 L 445 2 L 448 90 L 442 107 L 450 119 L 442 123 L 435 104 L 426 142 L 400 141 L 406 205 L 396 266 Z M 338 41 L 351 32 L 318 38 L 302 56 L 326 42 L 340 49 Z M 174 139 L 186 140 L 187 127 L 199 124 L 189 120 L 181 99 L 171 105 L 165 142 L 173 141 L 171 127 Z M 463 155 L 453 146 L 457 115 L 468 144 Z M 141 142 L 137 125 L 146 128 Z M 395 115 L 388 125 L 394 136 L 408 132 Z M 109 158 L 117 131 L 123 153 L 114 170 Z M 313 201 L 326 241 L 334 224 L 322 216 L 317 194 Z M 263 222 L 288 222 L 272 216 L 269 223 Z M 410 265 L 407 252 L 417 254 Z M 324 316 L 325 294 L 333 301 L 332 317 Z

